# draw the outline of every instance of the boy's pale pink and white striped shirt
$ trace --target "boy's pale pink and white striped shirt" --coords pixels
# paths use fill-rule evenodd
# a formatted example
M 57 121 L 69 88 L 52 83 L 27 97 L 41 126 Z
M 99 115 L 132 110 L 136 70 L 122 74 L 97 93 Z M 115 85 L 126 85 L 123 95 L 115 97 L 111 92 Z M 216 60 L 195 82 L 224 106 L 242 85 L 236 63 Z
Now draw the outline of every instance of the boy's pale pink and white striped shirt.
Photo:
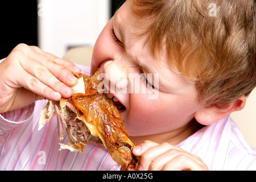
M 85 74 L 89 67 L 79 65 Z M 0 114 L 0 170 L 118 170 L 104 146 L 88 144 L 84 152 L 59 151 L 56 115 L 38 131 L 47 101 Z M 256 152 L 230 117 L 205 126 L 177 145 L 199 156 L 210 170 L 256 170 Z

